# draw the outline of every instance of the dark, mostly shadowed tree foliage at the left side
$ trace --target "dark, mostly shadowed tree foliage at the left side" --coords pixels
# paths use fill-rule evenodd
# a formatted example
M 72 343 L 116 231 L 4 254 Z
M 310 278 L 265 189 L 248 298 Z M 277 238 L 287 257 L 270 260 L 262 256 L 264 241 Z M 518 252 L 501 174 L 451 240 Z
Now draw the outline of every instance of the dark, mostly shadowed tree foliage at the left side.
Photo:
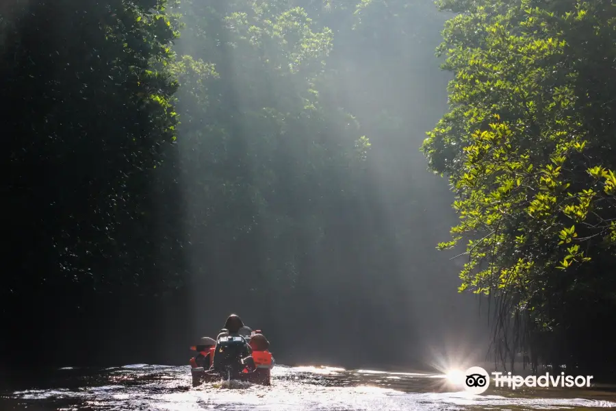
M 159 261 L 144 227 L 177 124 L 164 3 L 31 1 L 2 19 L 8 186 L 12 214 L 27 216 L 19 231 L 36 238 L 16 253 L 30 285 L 153 286 L 140 275 Z

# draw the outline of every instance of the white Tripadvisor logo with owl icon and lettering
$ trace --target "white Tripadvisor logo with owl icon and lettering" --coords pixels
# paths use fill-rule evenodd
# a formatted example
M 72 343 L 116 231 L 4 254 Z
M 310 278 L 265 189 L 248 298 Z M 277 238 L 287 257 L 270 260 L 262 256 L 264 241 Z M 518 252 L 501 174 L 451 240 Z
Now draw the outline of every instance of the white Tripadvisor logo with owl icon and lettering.
M 511 373 L 491 373 L 493 375 L 494 386 L 496 388 L 511 388 L 513 390 L 517 388 L 572 388 L 576 387 L 590 387 L 592 375 L 550 375 L 546 373 L 544 375 L 529 375 L 528 377 L 522 377 L 522 375 L 511 375 Z M 485 369 L 480 366 L 472 366 L 464 373 L 464 388 L 467 392 L 472 394 L 483 394 L 489 388 L 490 375 Z

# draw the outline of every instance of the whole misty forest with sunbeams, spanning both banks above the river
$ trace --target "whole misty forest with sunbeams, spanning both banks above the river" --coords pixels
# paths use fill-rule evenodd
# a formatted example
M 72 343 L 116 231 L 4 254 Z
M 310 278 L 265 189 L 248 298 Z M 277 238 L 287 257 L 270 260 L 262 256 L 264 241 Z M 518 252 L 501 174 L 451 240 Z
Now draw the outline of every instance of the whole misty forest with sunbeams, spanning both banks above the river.
M 465 315 L 432 254 L 451 195 L 418 150 L 446 110 L 442 41 L 450 110 L 422 150 L 463 219 L 441 248 L 471 238 L 461 289 L 498 302 L 502 358 L 598 366 L 615 324 L 616 9 L 439 6 L 3 2 L 0 309 L 42 316 L 7 347 L 65 332 L 50 362 L 105 361 L 68 354 L 102 329 L 116 336 L 92 351 L 162 361 L 241 308 L 304 358 L 370 361 L 357 335 L 398 329 L 413 339 L 374 360 L 418 364 L 415 330 L 461 332 Z

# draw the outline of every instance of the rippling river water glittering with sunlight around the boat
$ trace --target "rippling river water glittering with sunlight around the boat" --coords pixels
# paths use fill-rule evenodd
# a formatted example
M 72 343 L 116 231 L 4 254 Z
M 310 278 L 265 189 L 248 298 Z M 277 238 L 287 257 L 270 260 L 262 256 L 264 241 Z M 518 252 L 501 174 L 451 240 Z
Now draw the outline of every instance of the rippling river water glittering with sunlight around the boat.
M 60 369 L 30 389 L 0 388 L 0 410 L 591 410 L 616 407 L 600 390 L 463 393 L 444 375 L 275 366 L 272 386 L 192 388 L 189 366 Z

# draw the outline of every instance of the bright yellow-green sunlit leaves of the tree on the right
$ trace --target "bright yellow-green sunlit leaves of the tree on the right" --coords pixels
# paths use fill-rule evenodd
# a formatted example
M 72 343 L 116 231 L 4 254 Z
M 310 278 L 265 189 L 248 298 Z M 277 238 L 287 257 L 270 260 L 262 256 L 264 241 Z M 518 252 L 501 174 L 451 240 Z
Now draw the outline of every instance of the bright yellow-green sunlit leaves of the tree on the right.
M 614 290 L 597 265 L 616 262 L 616 126 L 605 121 L 615 109 L 605 90 L 614 90 L 616 16 L 600 3 L 441 2 L 461 13 L 438 49 L 454 73 L 450 111 L 422 151 L 455 188 L 452 236 L 491 233 L 468 240 L 460 290 L 502 297 L 544 330 L 559 315 L 544 302 L 578 273 L 576 287 L 594 276 L 587 289 Z

